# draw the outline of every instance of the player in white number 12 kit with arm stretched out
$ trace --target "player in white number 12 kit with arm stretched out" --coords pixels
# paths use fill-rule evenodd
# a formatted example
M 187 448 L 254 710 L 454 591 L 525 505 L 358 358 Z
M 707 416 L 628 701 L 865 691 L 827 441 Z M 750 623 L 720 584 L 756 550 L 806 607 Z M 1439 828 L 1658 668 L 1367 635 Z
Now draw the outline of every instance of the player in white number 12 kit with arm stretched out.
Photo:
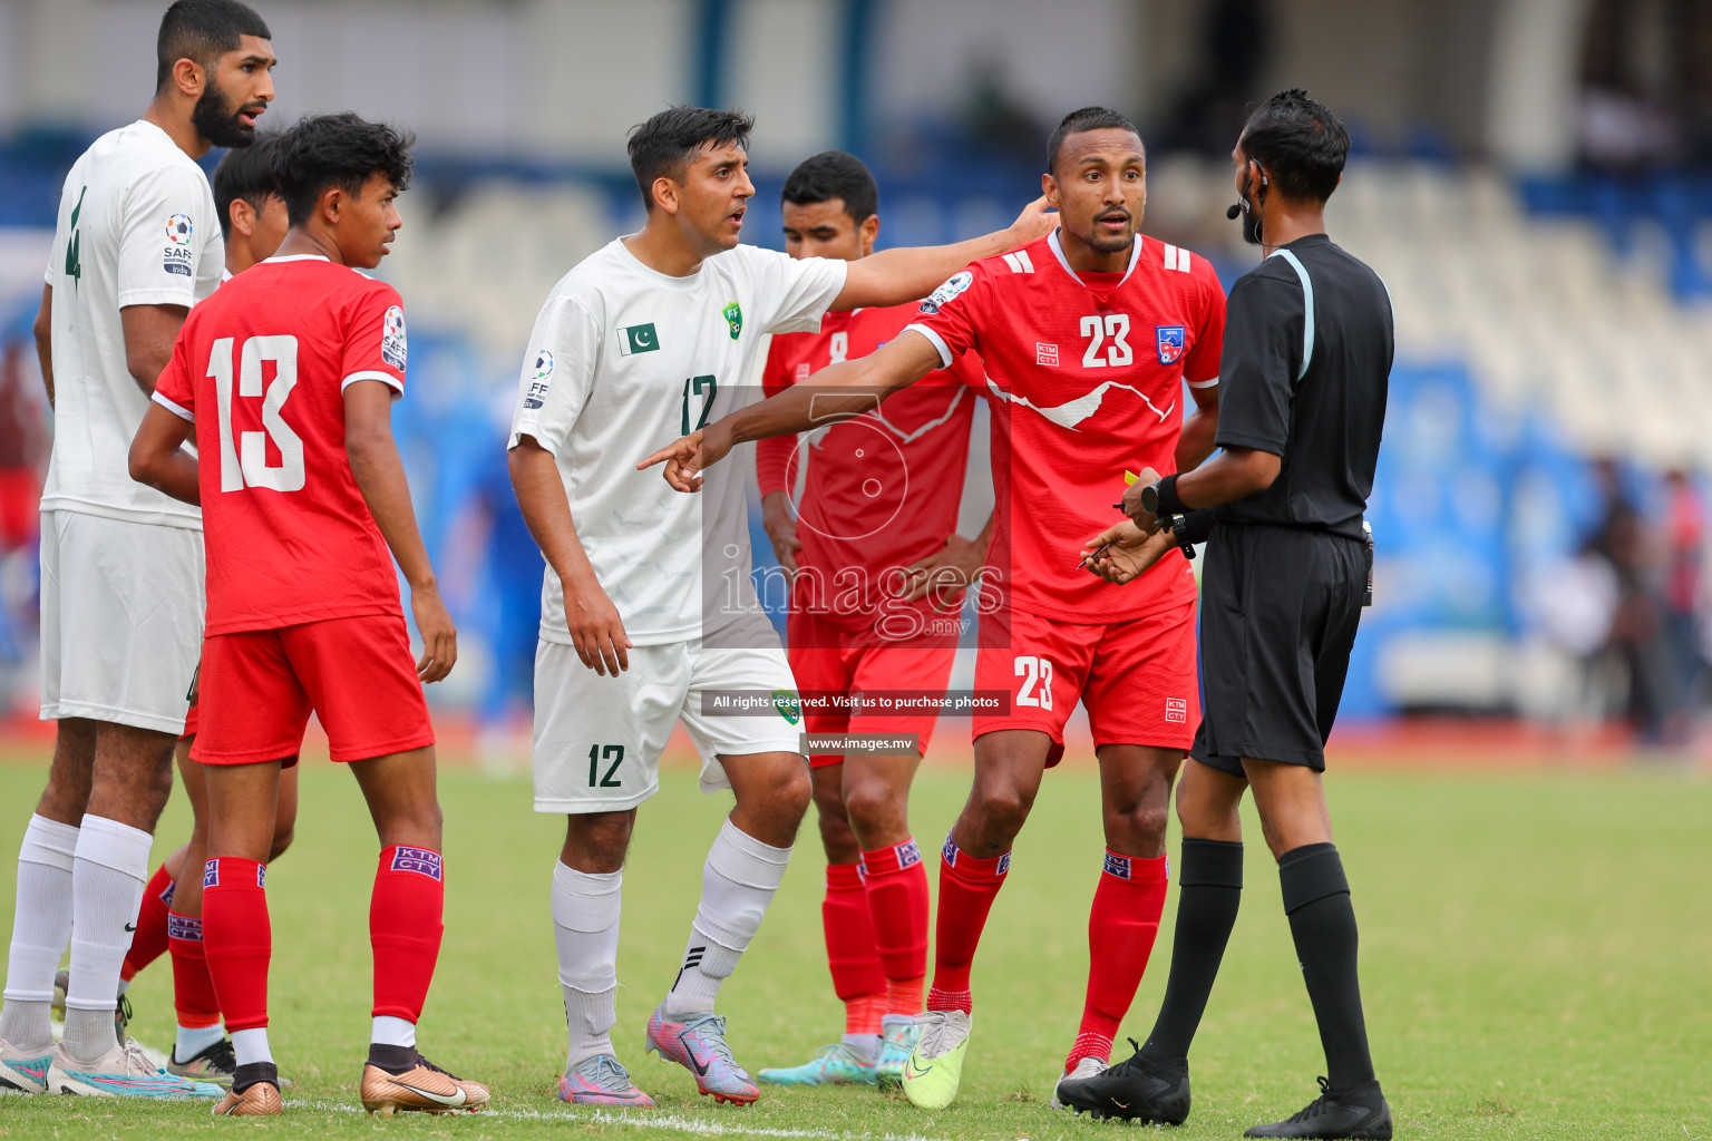
M 760 927 L 810 799 L 796 684 L 748 578 L 741 476 L 675 496 L 637 462 L 734 407 L 765 334 L 912 301 L 1051 228 L 1036 200 L 1010 229 L 859 262 L 738 245 L 755 193 L 750 127 L 680 106 L 632 133 L 647 222 L 553 287 L 519 383 L 512 484 L 548 563 L 534 807 L 568 818 L 553 924 L 570 1028 L 560 1097 L 574 1103 L 652 1105 L 609 1032 L 625 850 L 673 724 L 700 753 L 702 789 L 731 789 L 736 807 L 707 855 L 683 965 L 647 1043 L 722 1102 L 753 1102 L 758 1088 L 731 1055 L 714 996 Z

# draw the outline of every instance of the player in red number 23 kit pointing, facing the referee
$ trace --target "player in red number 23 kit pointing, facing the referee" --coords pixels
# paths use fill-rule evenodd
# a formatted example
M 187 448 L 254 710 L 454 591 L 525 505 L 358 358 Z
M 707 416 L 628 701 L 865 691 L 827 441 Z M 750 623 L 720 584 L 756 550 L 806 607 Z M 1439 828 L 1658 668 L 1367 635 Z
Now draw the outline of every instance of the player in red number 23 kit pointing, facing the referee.
M 1012 708 L 974 718 L 974 789 L 940 860 L 933 990 L 904 1069 L 904 1091 L 926 1108 L 957 1095 L 974 949 L 1079 698 L 1099 758 L 1106 855 L 1065 1074 L 1104 1066 L 1159 929 L 1169 790 L 1198 712 L 1195 582 L 1183 556 L 1161 558 L 1138 594 L 1116 597 L 1072 553 L 1115 522 L 1125 472 L 1173 472 L 1210 453 L 1224 291 L 1205 258 L 1138 233 L 1145 154 L 1121 115 L 1065 116 L 1043 185 L 1060 210 L 1056 233 L 955 274 L 878 352 L 644 460 L 666 460 L 668 482 L 693 491 L 733 443 L 859 414 L 964 352 L 981 356 L 1002 505 L 983 592 L 1002 594 L 983 607 L 976 688 L 1008 689 Z M 1186 419 L 1185 381 L 1197 404 Z M 1079 532 L 1089 523 L 1099 525 Z

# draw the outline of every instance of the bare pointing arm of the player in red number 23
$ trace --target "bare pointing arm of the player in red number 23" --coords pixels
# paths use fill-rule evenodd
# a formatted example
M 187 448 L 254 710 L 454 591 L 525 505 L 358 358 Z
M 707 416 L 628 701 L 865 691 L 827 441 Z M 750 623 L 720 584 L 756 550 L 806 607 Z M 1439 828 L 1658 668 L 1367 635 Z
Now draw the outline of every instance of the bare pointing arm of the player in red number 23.
M 664 464 L 666 482 L 678 491 L 700 491 L 700 472 L 736 445 L 854 419 L 943 364 L 931 340 L 906 328 L 861 359 L 823 368 L 776 397 L 683 436 L 637 464 L 637 469 Z

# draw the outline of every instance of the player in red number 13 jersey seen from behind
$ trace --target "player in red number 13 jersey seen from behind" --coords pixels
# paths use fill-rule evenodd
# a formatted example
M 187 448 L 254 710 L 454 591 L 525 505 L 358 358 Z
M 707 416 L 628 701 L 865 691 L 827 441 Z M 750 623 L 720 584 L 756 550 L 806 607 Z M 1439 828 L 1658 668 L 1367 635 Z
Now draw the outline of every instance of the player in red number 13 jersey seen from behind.
M 486 1088 L 416 1050 L 445 896 L 421 686 L 450 672 L 457 631 L 392 441 L 404 310 L 395 289 L 358 272 L 380 263 L 402 224 L 394 198 L 409 183 L 409 140 L 322 115 L 277 147 L 286 241 L 192 311 L 130 453 L 132 477 L 204 508 L 207 708 L 192 760 L 204 765 L 209 802 L 204 939 L 236 1052 L 216 1112 L 281 1112 L 267 1045 L 265 860 L 281 761 L 296 756 L 312 710 L 332 760 L 351 765 L 382 843 L 363 1105 L 479 1108 Z M 192 431 L 195 457 L 180 450 Z M 425 643 L 414 667 L 394 558 Z

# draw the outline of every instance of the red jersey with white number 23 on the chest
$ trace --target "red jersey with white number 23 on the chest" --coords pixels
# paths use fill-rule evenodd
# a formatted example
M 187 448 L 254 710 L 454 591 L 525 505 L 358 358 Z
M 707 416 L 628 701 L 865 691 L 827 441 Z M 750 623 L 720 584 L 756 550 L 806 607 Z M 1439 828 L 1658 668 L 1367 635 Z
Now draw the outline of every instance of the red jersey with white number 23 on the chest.
M 1195 597 L 1178 551 L 1125 587 L 1077 551 L 1123 518 L 1125 470 L 1176 470 L 1183 381 L 1217 381 L 1224 289 L 1207 258 L 1138 236 L 1123 274 L 1077 275 L 1055 231 L 952 277 L 909 328 L 986 368 L 1002 506 L 988 561 L 1012 606 L 1109 623 Z

